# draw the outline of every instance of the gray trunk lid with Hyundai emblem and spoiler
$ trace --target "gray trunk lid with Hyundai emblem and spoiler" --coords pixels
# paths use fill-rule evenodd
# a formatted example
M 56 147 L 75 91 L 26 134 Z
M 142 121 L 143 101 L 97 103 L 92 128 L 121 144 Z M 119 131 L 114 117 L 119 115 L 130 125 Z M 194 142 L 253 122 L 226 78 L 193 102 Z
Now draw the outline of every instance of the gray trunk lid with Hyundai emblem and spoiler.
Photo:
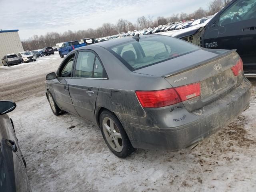
M 191 56 L 190 54 L 175 58 L 175 60 L 179 62 L 190 63 L 189 66 L 177 64 L 169 73 L 166 72 L 168 72 L 170 67 L 166 68 L 164 72 L 165 75 L 162 75 L 162 77 L 174 88 L 198 82 L 200 83 L 200 96 L 183 101 L 185 108 L 189 112 L 198 110 L 203 106 L 218 100 L 222 96 L 228 94 L 228 92 L 231 92 L 242 81 L 242 76 L 234 76 L 231 70 L 231 67 L 235 66 L 240 58 L 235 50 L 222 50 L 220 52 L 210 51 L 209 53 L 204 54 L 204 60 L 202 60 L 202 58 L 195 59 L 194 55 Z M 188 59 L 189 55 L 190 60 Z M 206 58 L 207 56 L 209 58 Z M 173 60 L 174 59 L 169 61 L 173 62 Z M 199 62 L 196 62 L 196 60 L 199 60 Z M 136 72 L 138 71 L 142 73 L 142 70 L 137 70 Z M 159 70 L 158 72 L 153 70 L 151 75 L 159 75 L 159 73 Z

